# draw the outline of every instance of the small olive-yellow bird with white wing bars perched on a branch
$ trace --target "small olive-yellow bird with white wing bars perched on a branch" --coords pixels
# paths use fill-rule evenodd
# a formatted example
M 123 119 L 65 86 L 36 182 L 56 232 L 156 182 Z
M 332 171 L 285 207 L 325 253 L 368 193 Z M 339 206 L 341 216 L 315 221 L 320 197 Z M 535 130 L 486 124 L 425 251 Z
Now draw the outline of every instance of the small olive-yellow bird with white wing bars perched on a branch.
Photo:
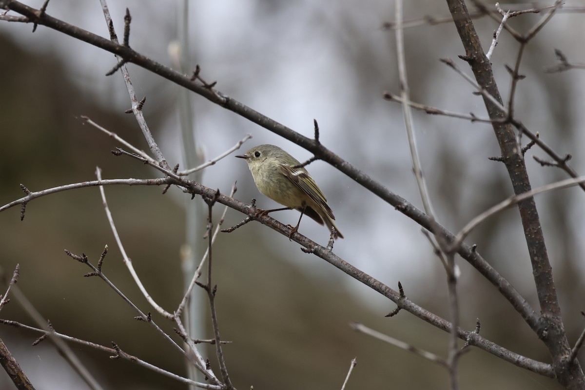
M 243 156 L 236 157 L 246 160 L 261 194 L 286 206 L 281 209 L 260 210 L 258 214 L 266 215 L 273 211 L 296 209 L 301 212 L 301 218 L 308 215 L 319 225 L 325 223 L 330 232 L 331 228 L 335 227 L 334 237 L 343 238 L 333 222 L 335 216 L 327 204 L 325 195 L 304 167 L 297 168 L 301 163 L 296 158 L 280 147 L 269 144 L 253 147 Z M 298 219 L 297 226 L 291 226 L 289 238 L 298 231 L 301 218 Z

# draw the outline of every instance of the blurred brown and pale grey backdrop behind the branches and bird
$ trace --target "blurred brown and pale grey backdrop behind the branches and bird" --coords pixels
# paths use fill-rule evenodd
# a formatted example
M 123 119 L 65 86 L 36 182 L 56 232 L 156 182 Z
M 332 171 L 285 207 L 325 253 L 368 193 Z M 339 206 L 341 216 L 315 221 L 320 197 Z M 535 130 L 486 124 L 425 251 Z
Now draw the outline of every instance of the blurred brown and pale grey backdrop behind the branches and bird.
M 130 46 L 160 63 L 177 68 L 173 47 L 177 39 L 179 2 L 127 0 L 109 4 L 118 35 L 122 36 L 125 8 L 132 14 Z M 26 1 L 40 8 L 42 1 Z M 566 7 L 581 5 L 566 1 Z M 472 9 L 472 5 L 468 5 Z M 493 5 L 488 5 L 493 6 Z M 505 8 L 505 5 L 502 5 Z M 529 8 L 531 5 L 526 5 Z M 405 19 L 448 17 L 444 2 L 405 2 Z M 108 37 L 99 2 L 53 0 L 49 15 Z M 509 23 L 527 31 L 541 15 L 524 15 Z M 341 0 L 337 2 L 268 1 L 192 2 L 188 15 L 190 53 L 201 65 L 201 76 L 216 88 L 284 125 L 313 136 L 312 120 L 321 128 L 321 141 L 335 153 L 382 182 L 391 191 L 421 205 L 412 175 L 401 108 L 381 98 L 398 93 L 395 36 L 381 28 L 394 20 L 394 2 Z M 497 22 L 475 21 L 484 49 Z M 559 12 L 532 40 L 524 53 L 515 99 L 517 118 L 559 154 L 571 153 L 570 164 L 585 172 L 583 85 L 578 70 L 545 74 L 556 63 L 553 49 L 582 62 L 583 14 Z M 480 98 L 461 77 L 441 64 L 452 58 L 470 71 L 457 55 L 464 54 L 451 23 L 421 25 L 405 30 L 408 78 L 413 101 L 460 113 L 487 116 Z M 503 33 L 492 57 L 501 94 L 507 96 L 518 44 Z M 159 173 L 110 153 L 115 141 L 84 125 L 81 115 L 147 150 L 130 108 L 119 73 L 105 77 L 115 64 L 110 53 L 39 26 L 0 21 L 0 203 L 23 196 L 19 184 L 31 191 L 104 178 L 151 178 Z M 147 96 L 144 115 L 171 165 L 183 161 L 178 130 L 177 85 L 129 65 L 136 93 Z M 192 96 L 194 131 L 209 160 L 229 149 L 246 133 L 240 152 L 261 143 L 283 147 L 298 160 L 306 150 L 280 139 L 260 126 Z M 491 127 L 482 123 L 414 113 L 424 174 L 439 221 L 456 232 L 473 216 L 511 195 L 503 164 L 488 160 L 499 148 Z M 236 153 L 240 154 L 240 153 Z M 526 153 L 533 187 L 566 178 L 560 170 L 541 167 Z M 184 168 L 184 165 L 181 165 Z M 322 161 L 308 166 L 335 212 L 345 235 L 335 252 L 349 263 L 396 289 L 402 282 L 408 298 L 432 312 L 449 317 L 446 278 L 442 266 L 420 232 L 377 196 Z M 257 192 L 242 160 L 226 157 L 207 168 L 202 184 L 229 193 L 238 181 L 236 198 L 260 208 L 276 203 Z M 106 196 L 121 239 L 144 285 L 153 298 L 173 311 L 183 295 L 180 248 L 185 241 L 187 198 L 176 188 L 107 187 Z M 570 342 L 583 327 L 583 217 L 585 194 L 579 188 L 539 195 L 536 203 Z M 192 202 L 202 202 L 195 198 Z M 216 208 L 219 213 L 219 207 Z M 294 224 L 298 213 L 275 213 Z M 226 226 L 244 218 L 228 211 Z M 204 226 L 205 219 L 201 219 Z M 104 245 L 110 251 L 104 272 L 144 312 L 151 310 L 122 265 L 98 188 L 77 189 L 30 202 L 20 222 L 20 208 L 0 215 L 0 265 L 6 278 L 20 264 L 18 286 L 57 332 L 109 346 L 115 341 L 127 353 L 186 375 L 184 362 L 149 326 L 133 319 L 132 311 L 98 278 L 83 278 L 87 267 L 64 254 L 85 253 L 97 262 Z M 324 227 L 309 219 L 300 232 L 325 244 Z M 488 219 L 467 239 L 538 310 L 532 270 L 516 209 Z M 205 241 L 201 239 L 202 247 Z M 199 249 L 197 250 L 199 257 Z M 221 234 L 214 250 L 216 304 L 224 340 L 233 341 L 224 353 L 235 386 L 247 389 L 339 389 L 353 357 L 357 367 L 348 389 L 446 389 L 446 370 L 406 351 L 364 334 L 348 323 L 364 323 L 380 332 L 446 356 L 448 334 L 400 312 L 385 318 L 395 305 L 324 261 L 300 251 L 259 223 Z M 549 361 L 542 343 L 487 281 L 464 261 L 459 282 L 461 323 L 472 330 L 476 317 L 481 334 L 517 353 Z M 2 287 L 4 291 L 4 287 Z M 201 296 L 203 291 L 199 291 Z M 207 308 L 207 306 L 205 306 Z M 204 313 L 206 316 L 208 313 Z M 13 301 L 4 319 L 31 324 Z M 168 333 L 173 324 L 154 319 Z M 209 323 L 206 321 L 205 323 Z M 211 338 L 211 329 L 194 337 Z M 39 389 L 84 389 L 47 341 L 30 344 L 38 334 L 0 327 L 23 370 Z M 101 384 L 108 389 L 185 388 L 127 361 L 72 346 Z M 205 347 L 203 347 L 205 350 Z M 205 350 L 215 364 L 214 349 Z M 216 366 L 214 366 L 216 367 Z M 217 369 L 216 369 L 216 372 Z M 12 386 L 4 371 L 3 388 Z M 461 388 L 558 389 L 553 379 L 532 374 L 474 348 L 460 360 Z

